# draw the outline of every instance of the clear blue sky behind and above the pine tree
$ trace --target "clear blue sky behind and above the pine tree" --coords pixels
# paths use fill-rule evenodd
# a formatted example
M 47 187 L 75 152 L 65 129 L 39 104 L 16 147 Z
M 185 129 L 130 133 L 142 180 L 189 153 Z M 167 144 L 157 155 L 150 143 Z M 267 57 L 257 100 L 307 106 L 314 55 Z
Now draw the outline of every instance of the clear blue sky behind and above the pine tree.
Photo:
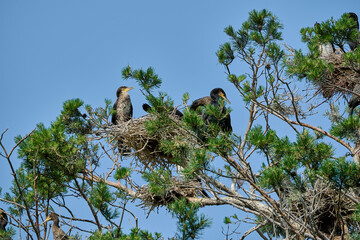
M 121 85 L 134 86 L 134 117 L 144 115 L 145 101 L 134 82 L 121 79 L 121 69 L 152 66 L 162 78 L 161 91 L 175 104 L 182 94 L 190 100 L 221 86 L 232 102 L 232 122 L 241 133 L 241 98 L 226 81 L 215 52 L 227 41 L 223 29 L 238 28 L 248 12 L 268 9 L 284 25 L 284 41 L 303 48 L 299 30 L 344 12 L 360 15 L 359 0 L 303 1 L 0 1 L 0 132 L 8 148 L 14 136 L 25 135 L 39 122 L 49 125 L 62 104 L 80 98 L 93 107 L 115 100 Z M 15 166 L 19 160 L 13 158 Z M 0 187 L 8 190 L 11 175 L 0 159 Z M 6 206 L 0 202 L 0 207 Z M 223 239 L 220 223 L 234 209 L 208 209 L 213 218 L 204 239 Z M 152 213 L 140 226 L 172 236 L 175 221 Z M 161 211 L 160 213 L 164 213 Z M 156 223 L 156 224 L 155 224 Z M 155 226 L 157 225 L 157 226 Z M 241 228 L 240 232 L 246 229 Z

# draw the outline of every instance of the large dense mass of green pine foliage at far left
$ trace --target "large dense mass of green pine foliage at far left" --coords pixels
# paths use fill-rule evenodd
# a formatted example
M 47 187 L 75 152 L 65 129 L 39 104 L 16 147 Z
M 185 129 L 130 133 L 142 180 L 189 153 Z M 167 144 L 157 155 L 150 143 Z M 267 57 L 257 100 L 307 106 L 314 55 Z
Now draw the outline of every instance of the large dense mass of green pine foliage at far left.
M 19 145 L 19 158 L 23 159 L 19 177 L 27 182 L 24 189 L 32 189 L 32 194 L 35 194 L 34 186 L 36 194 L 43 198 L 65 192 L 65 184 L 83 171 L 85 159 L 95 158 L 96 147 L 89 145 L 86 135 L 88 122 L 78 110 L 82 104 L 79 99 L 66 101 L 61 115 L 50 127 L 38 124 L 31 136 Z M 21 139 L 17 136 L 15 141 Z

